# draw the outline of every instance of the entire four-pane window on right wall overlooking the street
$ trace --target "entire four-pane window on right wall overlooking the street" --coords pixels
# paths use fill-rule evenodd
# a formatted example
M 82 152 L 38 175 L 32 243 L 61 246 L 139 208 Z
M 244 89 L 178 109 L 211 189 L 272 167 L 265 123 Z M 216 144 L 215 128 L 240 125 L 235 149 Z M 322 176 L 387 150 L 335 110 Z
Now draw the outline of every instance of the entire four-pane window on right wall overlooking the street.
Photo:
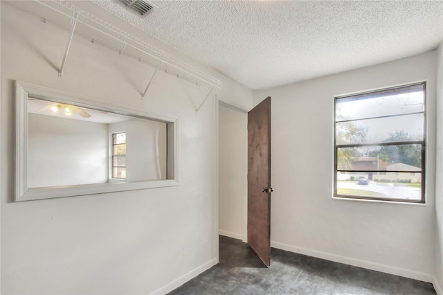
M 425 83 L 336 98 L 336 195 L 424 202 L 424 100 Z

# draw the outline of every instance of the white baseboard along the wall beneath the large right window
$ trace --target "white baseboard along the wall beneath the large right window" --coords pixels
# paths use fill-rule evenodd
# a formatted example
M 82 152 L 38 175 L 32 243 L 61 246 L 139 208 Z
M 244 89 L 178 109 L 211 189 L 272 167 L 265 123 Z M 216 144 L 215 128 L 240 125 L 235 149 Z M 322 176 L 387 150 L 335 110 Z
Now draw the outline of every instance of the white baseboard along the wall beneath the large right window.
M 271 247 L 282 249 L 285 251 L 291 251 L 294 253 L 300 253 L 307 256 L 313 256 L 316 258 L 321 258 L 325 260 L 330 260 L 334 262 L 340 262 L 344 263 L 346 265 L 353 265 L 354 267 L 363 267 L 365 269 L 372 269 L 374 271 L 381 271 L 385 272 L 387 274 L 394 274 L 396 276 L 404 276 L 405 278 L 413 278 L 415 280 L 422 280 L 426 283 L 434 283 L 435 278 L 430 274 L 424 274 L 419 271 L 413 271 L 410 269 L 401 269 L 399 267 L 392 267 L 389 265 L 381 265 L 379 263 L 365 261 L 365 260 L 359 260 L 354 258 L 349 258 L 345 256 L 339 256 L 331 253 L 325 253 L 322 251 L 316 251 L 311 249 L 305 249 L 301 247 L 292 246 L 289 244 L 283 244 L 279 242 L 273 242 L 271 241 Z M 437 287 L 435 287 L 437 289 Z M 438 293 L 439 295 L 443 295 L 441 293 Z

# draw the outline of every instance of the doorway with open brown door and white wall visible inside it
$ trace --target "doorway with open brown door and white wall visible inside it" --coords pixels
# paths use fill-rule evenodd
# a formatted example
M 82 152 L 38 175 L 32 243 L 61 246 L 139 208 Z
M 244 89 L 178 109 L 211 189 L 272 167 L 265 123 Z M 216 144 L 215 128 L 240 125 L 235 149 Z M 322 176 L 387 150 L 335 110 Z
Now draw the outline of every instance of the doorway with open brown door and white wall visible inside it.
M 219 235 L 247 242 L 269 267 L 271 98 L 248 113 L 220 102 L 218 117 Z

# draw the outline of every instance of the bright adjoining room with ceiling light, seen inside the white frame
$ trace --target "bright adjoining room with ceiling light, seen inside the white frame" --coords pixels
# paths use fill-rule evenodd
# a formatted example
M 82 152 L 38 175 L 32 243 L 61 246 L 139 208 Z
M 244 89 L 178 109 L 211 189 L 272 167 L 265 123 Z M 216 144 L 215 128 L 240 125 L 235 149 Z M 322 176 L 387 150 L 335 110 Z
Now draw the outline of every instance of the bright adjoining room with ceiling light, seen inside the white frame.
M 166 123 L 28 98 L 29 188 L 165 175 Z

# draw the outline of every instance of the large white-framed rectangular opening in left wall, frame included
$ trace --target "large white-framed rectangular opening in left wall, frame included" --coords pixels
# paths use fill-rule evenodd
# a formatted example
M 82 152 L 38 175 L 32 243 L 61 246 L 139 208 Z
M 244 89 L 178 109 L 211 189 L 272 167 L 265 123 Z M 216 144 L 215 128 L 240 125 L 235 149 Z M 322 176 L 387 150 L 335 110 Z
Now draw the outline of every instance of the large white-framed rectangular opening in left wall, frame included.
M 15 200 L 177 185 L 177 119 L 15 82 Z

